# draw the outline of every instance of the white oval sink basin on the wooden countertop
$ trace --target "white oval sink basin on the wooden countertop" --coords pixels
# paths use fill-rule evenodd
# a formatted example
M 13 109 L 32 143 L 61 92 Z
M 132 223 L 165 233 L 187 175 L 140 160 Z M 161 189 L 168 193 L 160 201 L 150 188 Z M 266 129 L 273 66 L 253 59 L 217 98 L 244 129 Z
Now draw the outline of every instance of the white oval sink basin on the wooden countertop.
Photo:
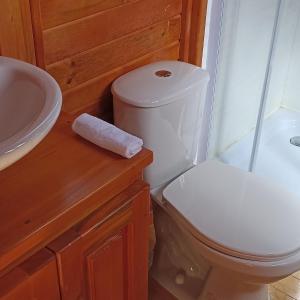
M 59 115 L 61 90 L 45 71 L 0 56 L 0 170 L 32 150 Z

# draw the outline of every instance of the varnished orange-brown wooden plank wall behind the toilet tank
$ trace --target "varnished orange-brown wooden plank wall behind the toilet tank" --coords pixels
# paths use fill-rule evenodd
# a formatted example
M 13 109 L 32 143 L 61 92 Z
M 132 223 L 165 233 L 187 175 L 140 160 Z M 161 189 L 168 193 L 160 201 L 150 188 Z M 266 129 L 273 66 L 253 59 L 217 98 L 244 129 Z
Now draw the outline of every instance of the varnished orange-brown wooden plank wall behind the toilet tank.
M 112 81 L 138 66 L 162 59 L 199 63 L 200 53 L 193 57 L 191 42 L 199 40 L 201 48 L 203 37 L 198 27 L 196 33 L 191 28 L 197 26 L 207 0 L 1 1 L 14 10 L 14 22 L 25 28 L 31 55 L 21 59 L 53 75 L 63 90 L 63 110 L 71 114 L 91 112 L 109 119 Z M 7 32 L 18 40 L 18 32 Z M 28 45 L 33 42 L 32 52 Z

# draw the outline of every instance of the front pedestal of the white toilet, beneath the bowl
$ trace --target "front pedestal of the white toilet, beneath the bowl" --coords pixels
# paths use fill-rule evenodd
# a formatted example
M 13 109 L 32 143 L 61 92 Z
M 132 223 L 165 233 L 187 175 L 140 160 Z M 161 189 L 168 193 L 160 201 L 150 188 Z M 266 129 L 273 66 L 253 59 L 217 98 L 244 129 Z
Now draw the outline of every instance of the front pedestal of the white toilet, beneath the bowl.
M 199 300 L 268 300 L 266 284 L 252 284 L 240 280 L 233 273 L 212 268 Z

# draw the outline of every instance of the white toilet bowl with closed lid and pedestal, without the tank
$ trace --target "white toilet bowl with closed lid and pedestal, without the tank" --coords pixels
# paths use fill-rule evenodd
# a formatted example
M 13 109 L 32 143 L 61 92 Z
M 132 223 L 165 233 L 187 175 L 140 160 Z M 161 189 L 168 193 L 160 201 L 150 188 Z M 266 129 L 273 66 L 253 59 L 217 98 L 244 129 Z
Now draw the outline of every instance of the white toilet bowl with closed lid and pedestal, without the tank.
M 267 283 L 299 270 L 299 199 L 266 179 L 207 161 L 175 179 L 163 198 L 212 266 L 199 299 L 265 300 Z

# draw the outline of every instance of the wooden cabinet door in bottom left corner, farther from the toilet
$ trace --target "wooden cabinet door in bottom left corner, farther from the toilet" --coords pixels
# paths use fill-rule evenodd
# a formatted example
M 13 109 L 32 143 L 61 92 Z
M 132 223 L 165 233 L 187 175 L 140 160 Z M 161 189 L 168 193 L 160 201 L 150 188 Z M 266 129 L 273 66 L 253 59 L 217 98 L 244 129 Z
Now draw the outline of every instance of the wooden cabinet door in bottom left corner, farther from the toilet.
M 59 300 L 55 256 L 42 249 L 0 278 L 1 300 Z

